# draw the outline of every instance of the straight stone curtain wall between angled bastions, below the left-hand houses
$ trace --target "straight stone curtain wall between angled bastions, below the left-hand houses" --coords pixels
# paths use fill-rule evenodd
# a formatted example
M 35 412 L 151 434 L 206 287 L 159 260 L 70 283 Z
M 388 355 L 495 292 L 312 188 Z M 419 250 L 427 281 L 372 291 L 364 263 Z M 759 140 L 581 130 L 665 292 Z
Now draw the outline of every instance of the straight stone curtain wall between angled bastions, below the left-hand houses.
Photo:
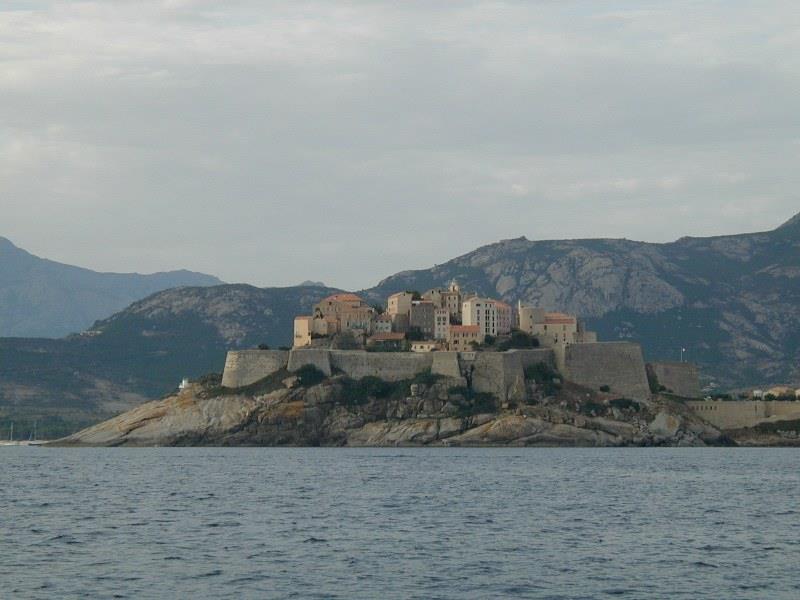
M 384 381 L 411 379 L 433 364 L 432 352 L 363 352 L 332 350 L 331 366 L 348 377 L 361 379 L 368 375 Z

